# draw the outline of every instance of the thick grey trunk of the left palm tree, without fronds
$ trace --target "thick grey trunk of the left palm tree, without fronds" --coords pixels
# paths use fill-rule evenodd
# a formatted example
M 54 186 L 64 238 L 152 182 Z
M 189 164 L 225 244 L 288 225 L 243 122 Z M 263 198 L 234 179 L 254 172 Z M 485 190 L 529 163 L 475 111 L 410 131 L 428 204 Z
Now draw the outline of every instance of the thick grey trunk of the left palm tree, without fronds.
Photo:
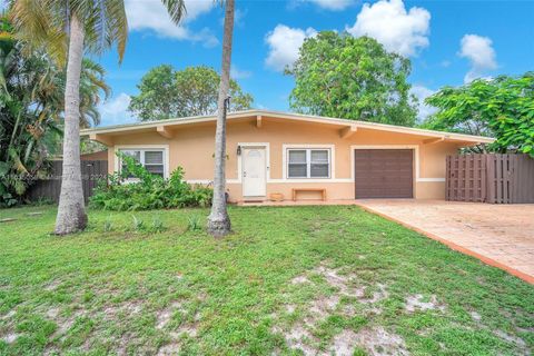
M 87 225 L 80 168 L 80 75 L 83 37 L 82 23 L 72 14 L 65 88 L 63 174 L 56 219 L 57 235 L 82 230 Z

